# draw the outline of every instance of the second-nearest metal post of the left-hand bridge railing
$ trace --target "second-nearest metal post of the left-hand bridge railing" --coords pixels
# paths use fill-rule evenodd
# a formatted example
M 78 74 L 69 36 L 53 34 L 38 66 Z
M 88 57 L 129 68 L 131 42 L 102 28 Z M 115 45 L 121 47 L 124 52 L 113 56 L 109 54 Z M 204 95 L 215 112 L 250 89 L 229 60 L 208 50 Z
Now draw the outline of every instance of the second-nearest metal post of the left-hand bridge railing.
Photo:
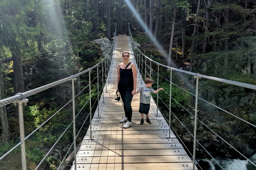
M 74 164 L 75 164 L 75 170 L 76 170 L 76 140 L 75 140 L 75 86 L 74 86 L 74 80 L 72 79 L 72 109 L 73 109 L 73 140 L 74 140 Z

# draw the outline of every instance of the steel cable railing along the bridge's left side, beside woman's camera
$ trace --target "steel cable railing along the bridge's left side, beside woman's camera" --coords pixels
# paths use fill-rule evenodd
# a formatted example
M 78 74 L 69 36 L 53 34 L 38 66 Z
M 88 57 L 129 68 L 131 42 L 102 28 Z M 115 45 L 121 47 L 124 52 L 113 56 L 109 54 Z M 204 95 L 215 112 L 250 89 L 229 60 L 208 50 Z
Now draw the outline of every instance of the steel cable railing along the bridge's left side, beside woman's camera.
M 61 134 L 58 135 L 58 138 L 56 138 L 56 141 L 54 143 L 52 143 L 51 148 L 49 150 L 46 151 L 46 153 L 42 153 L 42 155 L 44 155 L 44 157 L 41 160 L 37 160 L 39 162 L 38 165 L 36 165 L 36 167 L 34 169 L 42 169 L 43 168 L 43 163 L 45 161 L 45 159 L 48 157 L 49 158 L 49 154 L 51 154 L 53 152 L 53 150 L 55 149 L 56 144 L 61 140 L 61 138 L 66 135 L 68 129 L 73 129 L 73 142 L 72 145 L 70 145 L 67 148 L 66 154 L 65 156 L 61 157 L 60 164 L 58 169 L 62 169 L 61 166 L 63 165 L 63 161 L 66 159 L 67 155 L 70 154 L 71 150 L 73 150 L 73 155 L 74 155 L 74 164 L 76 164 L 76 139 L 77 136 L 80 134 L 80 132 L 82 131 L 83 128 L 85 128 L 85 124 L 88 122 L 91 124 L 91 119 L 93 116 L 93 110 L 97 109 L 97 103 L 99 103 L 99 98 L 101 97 L 101 95 L 103 95 L 103 100 L 104 100 L 104 84 L 108 83 L 107 78 L 110 75 L 110 68 L 111 68 L 111 64 L 112 64 L 112 56 L 114 55 L 114 48 L 116 45 L 116 27 L 115 27 L 115 35 L 114 35 L 114 39 L 112 42 L 112 45 L 110 47 L 110 50 L 108 52 L 108 54 L 96 65 L 94 65 L 91 68 L 86 69 L 83 72 L 80 72 L 78 74 L 72 75 L 70 77 L 61 79 L 59 81 L 47 84 L 45 86 L 24 92 L 24 93 L 18 93 L 15 96 L 12 97 L 8 97 L 5 99 L 0 100 L 0 107 L 4 107 L 6 105 L 9 104 L 18 104 L 18 110 L 19 110 L 19 127 L 20 127 L 20 142 L 18 142 L 12 149 L 10 149 L 8 152 L 6 152 L 4 155 L 2 155 L 0 157 L 0 160 L 2 161 L 4 158 L 6 158 L 6 156 L 8 156 L 11 152 L 13 152 L 18 146 L 20 146 L 21 148 L 21 162 L 22 162 L 22 167 L 19 167 L 18 169 L 23 169 L 26 170 L 27 169 L 27 159 L 26 159 L 26 153 L 28 153 L 28 150 L 26 150 L 26 141 L 33 135 L 38 135 L 39 134 L 39 130 L 42 129 L 45 125 L 47 125 L 47 127 L 49 129 L 53 129 L 53 126 L 55 126 L 55 128 L 61 128 L 63 129 L 63 132 Z M 88 75 L 87 75 L 88 74 Z M 86 75 L 85 77 L 88 78 L 89 80 L 87 81 L 87 84 L 84 85 L 84 88 L 78 92 L 77 95 L 75 95 L 75 82 L 76 79 L 81 76 L 81 75 Z M 67 102 L 66 104 L 64 104 L 60 109 L 58 109 L 55 113 L 51 114 L 51 116 L 49 116 L 49 118 L 47 118 L 46 121 L 42 122 L 40 125 L 38 125 L 37 128 L 35 128 L 28 136 L 25 137 L 25 132 L 24 132 L 24 118 L 23 118 L 23 106 L 26 105 L 28 103 L 28 97 L 40 93 L 42 91 L 45 91 L 46 89 L 51 89 L 53 87 L 57 87 L 60 84 L 63 84 L 65 82 L 71 81 L 71 84 L 69 85 L 69 87 L 71 88 L 72 91 L 72 96 L 70 96 L 70 98 L 72 98 L 69 102 Z M 77 82 L 78 84 L 79 82 Z M 78 85 L 77 85 L 78 86 Z M 82 95 L 83 94 L 83 95 Z M 82 97 L 81 97 L 82 96 Z M 94 96 L 94 97 L 92 97 Z M 80 97 L 80 98 L 79 98 Z M 84 97 L 84 98 L 83 98 Z M 83 99 L 83 101 L 78 101 L 81 100 L 81 98 Z M 77 106 L 79 103 L 80 105 Z M 64 111 L 65 108 L 67 107 L 71 107 L 71 109 L 67 109 L 66 111 Z M 89 110 L 88 113 L 83 113 L 84 112 L 84 108 L 87 107 L 87 110 Z M 99 107 L 99 106 L 98 106 Z M 77 112 L 75 109 L 80 108 L 80 110 Z M 99 108 L 98 108 L 99 110 Z M 62 115 L 65 114 L 65 112 L 69 112 L 67 115 L 67 117 L 69 117 L 71 122 L 68 122 L 68 120 L 58 120 L 59 118 L 56 117 L 61 117 L 61 118 L 65 118 Z M 69 116 L 70 112 L 72 113 L 72 119 Z M 96 114 L 96 113 L 95 113 Z M 99 116 L 99 115 L 98 115 Z M 77 118 L 83 118 L 83 123 L 77 125 L 76 121 Z M 50 121 L 52 121 L 52 119 L 54 119 L 54 121 L 56 121 L 55 123 L 49 123 Z M 88 120 L 90 119 L 90 120 Z M 57 122 L 66 122 L 66 126 L 65 127 L 58 127 L 56 124 L 58 124 Z M 89 125 L 88 125 L 89 126 Z M 87 127 L 88 127 L 87 126 Z M 90 126 L 91 127 L 91 126 Z M 49 130 L 48 129 L 48 130 Z M 77 130 L 79 129 L 79 130 Z M 91 130 L 91 129 L 90 129 Z M 45 138 L 41 139 L 42 141 L 45 140 Z M 9 158 L 10 160 L 10 158 Z M 17 166 L 15 164 L 13 164 L 14 167 L 17 168 Z M 76 167 L 76 166 L 75 166 Z M 14 168 L 14 169 L 16 169 Z M 44 169 L 44 168 L 43 168 Z

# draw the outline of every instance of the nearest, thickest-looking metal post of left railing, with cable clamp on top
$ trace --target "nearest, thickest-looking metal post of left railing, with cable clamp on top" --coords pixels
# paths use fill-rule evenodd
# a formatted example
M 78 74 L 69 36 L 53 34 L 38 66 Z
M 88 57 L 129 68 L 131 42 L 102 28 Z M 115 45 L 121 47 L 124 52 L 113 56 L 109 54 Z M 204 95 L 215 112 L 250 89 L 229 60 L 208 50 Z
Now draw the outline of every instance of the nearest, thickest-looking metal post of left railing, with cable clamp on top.
M 21 149 L 21 157 L 22 157 L 22 170 L 27 170 L 27 162 L 26 162 L 26 148 L 25 148 L 25 132 L 24 132 L 24 119 L 23 119 L 23 103 L 26 106 L 28 103 L 28 99 L 22 99 L 17 101 L 18 103 L 18 111 L 19 111 L 19 133 L 20 133 L 20 149 Z M 17 103 L 14 103 L 16 106 Z

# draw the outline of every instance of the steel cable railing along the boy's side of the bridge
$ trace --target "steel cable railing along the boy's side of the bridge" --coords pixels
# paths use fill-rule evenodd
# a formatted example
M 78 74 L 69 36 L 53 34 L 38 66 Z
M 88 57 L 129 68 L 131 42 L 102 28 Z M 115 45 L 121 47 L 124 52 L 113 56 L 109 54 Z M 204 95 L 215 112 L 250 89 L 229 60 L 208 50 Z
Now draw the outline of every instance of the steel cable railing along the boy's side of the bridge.
M 231 113 L 227 110 L 227 108 L 222 108 L 221 106 L 217 106 L 216 103 L 207 101 L 203 99 L 202 95 L 199 96 L 199 94 L 202 94 L 202 89 L 199 89 L 202 86 L 199 86 L 199 80 L 200 82 L 203 82 L 204 80 L 213 80 L 215 82 L 222 82 L 226 83 L 228 86 L 236 86 L 240 89 L 246 89 L 242 90 L 246 96 L 246 94 L 252 93 L 253 90 L 256 90 L 256 85 L 249 84 L 249 83 L 243 83 L 238 81 L 232 81 L 228 79 L 223 78 L 217 78 L 207 75 L 202 75 L 199 73 L 193 73 L 188 72 L 183 69 L 177 69 L 173 68 L 164 64 L 161 64 L 159 62 L 154 61 L 152 58 L 147 57 L 144 55 L 141 50 L 137 47 L 136 43 L 133 41 L 132 34 L 129 29 L 129 36 L 130 41 L 132 44 L 132 50 L 134 53 L 134 58 L 137 61 L 138 66 L 138 72 L 142 75 L 141 82 L 143 82 L 143 79 L 146 77 L 149 77 L 154 80 L 155 86 L 153 88 L 159 89 L 163 88 L 163 92 L 160 94 L 156 94 L 156 97 L 154 97 L 155 102 L 158 106 L 158 110 L 165 116 L 165 119 L 167 120 L 169 124 L 169 132 L 172 128 L 174 130 L 174 133 L 176 133 L 176 136 L 180 139 L 180 142 L 183 143 L 184 147 L 187 148 L 187 151 L 189 152 L 190 156 L 193 157 L 193 168 L 195 168 L 195 165 L 197 164 L 196 159 L 199 159 L 196 155 L 196 152 L 199 150 L 202 150 L 201 152 L 204 152 L 207 154 L 209 158 L 212 158 L 213 161 L 215 161 L 216 167 L 218 169 L 224 169 L 222 165 L 219 164 L 219 162 L 215 159 L 214 152 L 218 152 L 216 149 L 210 149 L 209 151 L 209 143 L 205 143 L 205 139 L 197 137 L 197 133 L 199 131 L 207 132 L 212 134 L 212 140 L 213 142 L 223 143 L 227 148 L 229 148 L 229 151 L 232 151 L 234 154 L 237 154 L 239 158 L 247 160 L 248 163 L 252 164 L 254 168 L 256 168 L 256 165 L 253 161 L 250 160 L 247 156 L 245 156 L 245 152 L 241 150 L 241 148 L 238 148 L 237 145 L 234 146 L 233 142 L 230 142 L 230 139 L 227 139 L 227 135 L 223 135 L 221 130 L 212 129 L 212 125 L 209 123 L 209 120 L 202 120 L 203 114 L 208 114 L 207 110 L 214 111 L 214 113 L 219 113 L 219 115 L 211 115 L 215 119 L 221 119 L 222 117 L 231 117 L 230 120 L 234 122 L 239 122 L 238 124 L 241 126 L 250 126 L 252 130 L 255 130 L 255 125 L 252 122 L 249 122 L 248 119 L 245 120 L 243 117 L 236 115 L 236 113 Z M 151 56 L 152 57 L 152 56 Z M 159 73 L 161 67 L 161 73 Z M 163 71 L 164 70 L 164 71 Z M 166 70 L 169 70 L 169 74 Z M 184 75 L 192 75 L 195 80 L 191 80 L 189 83 L 189 88 L 187 88 L 186 83 L 183 80 L 187 79 Z M 173 76 L 175 76 L 175 79 L 173 79 Z M 185 78 L 184 78 L 185 77 Z M 176 83 L 176 82 L 177 83 Z M 182 82 L 182 83 L 179 83 Z M 153 84 L 153 85 L 154 85 Z M 252 89 L 252 90 L 250 90 Z M 200 91 L 201 90 L 201 91 Z M 251 92 L 252 91 L 252 92 Z M 193 101 L 193 104 L 188 104 L 184 100 L 182 101 L 181 98 L 176 96 L 186 96 L 184 100 Z M 192 105 L 192 106 L 191 106 Z M 198 118 L 198 113 L 202 112 L 198 109 L 200 108 L 206 108 L 205 113 L 200 114 L 200 118 Z M 209 109 L 210 108 L 210 109 Z M 226 109 L 226 110 L 225 110 Z M 181 112 L 185 115 L 180 117 L 178 112 Z M 211 117 L 209 116 L 209 117 Z M 204 117 L 207 118 L 207 117 Z M 221 124 L 221 122 L 218 120 L 215 124 Z M 179 123 L 180 125 L 177 127 L 183 127 L 184 134 L 188 134 L 191 139 L 194 140 L 193 147 L 189 145 L 191 142 L 184 141 L 184 138 L 180 136 L 180 132 L 176 132 L 177 130 L 181 131 L 181 129 L 175 129 L 173 124 Z M 225 123 L 225 122 L 224 122 Z M 246 125 L 245 125 L 246 124 Z M 214 126 L 215 127 L 215 126 Z M 219 133 L 218 133 L 219 132 Z M 169 134 L 170 136 L 170 134 Z M 232 136 L 232 134 L 230 134 Z M 234 135 L 233 135 L 234 136 Z M 238 136 L 234 136 L 238 138 Z M 243 138 L 238 138 L 238 141 L 243 141 Z M 205 147 L 206 145 L 209 145 L 208 147 Z M 213 146 L 215 146 L 213 144 Z M 212 146 L 212 147 L 213 147 Z M 200 165 L 198 165 L 200 167 Z M 200 167 L 202 169 L 202 167 Z

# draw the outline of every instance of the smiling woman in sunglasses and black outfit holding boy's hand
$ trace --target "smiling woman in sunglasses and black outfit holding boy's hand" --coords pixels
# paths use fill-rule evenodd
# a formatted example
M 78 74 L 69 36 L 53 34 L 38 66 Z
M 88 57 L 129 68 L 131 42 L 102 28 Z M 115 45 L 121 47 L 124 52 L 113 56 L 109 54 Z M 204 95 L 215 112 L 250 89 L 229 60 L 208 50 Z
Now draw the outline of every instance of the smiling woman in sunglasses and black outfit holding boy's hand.
M 122 53 L 123 62 L 117 65 L 117 89 L 124 103 L 125 117 L 120 120 L 121 123 L 126 122 L 124 128 L 131 126 L 132 108 L 131 100 L 136 94 L 137 85 L 137 69 L 136 66 L 129 61 L 130 53 L 124 51 Z

